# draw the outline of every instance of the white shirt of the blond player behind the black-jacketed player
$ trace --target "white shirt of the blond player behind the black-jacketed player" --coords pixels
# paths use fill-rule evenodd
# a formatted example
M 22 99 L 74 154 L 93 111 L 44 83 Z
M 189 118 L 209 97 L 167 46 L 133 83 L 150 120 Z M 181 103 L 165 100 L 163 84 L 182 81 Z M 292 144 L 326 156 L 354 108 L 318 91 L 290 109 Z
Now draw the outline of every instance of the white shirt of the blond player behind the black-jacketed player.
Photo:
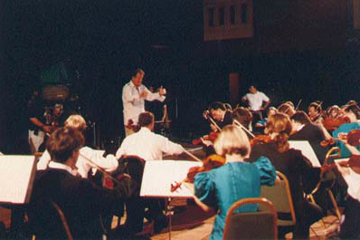
M 116 168 L 118 168 L 118 160 L 114 155 L 108 154 L 108 156 L 104 158 L 99 153 L 99 151 L 90 149 L 89 147 L 83 147 L 80 149 L 79 158 L 75 165 L 76 168 L 78 168 L 78 173 L 81 175 L 81 178 L 88 178 L 90 168 L 93 168 L 90 162 L 84 157 L 89 158 L 94 164 L 108 172 L 114 171 Z M 50 166 L 50 163 L 52 163 L 50 160 L 50 154 L 47 150 L 45 150 L 43 152 L 43 156 L 37 163 L 37 169 L 43 170 L 48 168 L 48 165 Z M 93 173 L 95 172 L 96 168 L 93 168 Z

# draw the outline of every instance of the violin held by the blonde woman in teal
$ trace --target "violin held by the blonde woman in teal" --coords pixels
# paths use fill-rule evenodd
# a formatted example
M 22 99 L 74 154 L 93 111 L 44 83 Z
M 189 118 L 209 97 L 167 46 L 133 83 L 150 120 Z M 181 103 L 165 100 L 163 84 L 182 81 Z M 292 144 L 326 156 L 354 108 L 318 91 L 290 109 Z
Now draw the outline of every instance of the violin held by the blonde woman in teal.
M 198 174 L 199 172 L 207 172 L 212 169 L 222 167 L 225 164 L 225 162 L 226 159 L 223 158 L 222 156 L 216 154 L 210 155 L 209 157 L 203 160 L 203 166 L 189 168 L 189 171 L 187 172 L 187 176 L 183 181 L 176 182 L 175 184 L 171 184 L 170 191 L 175 192 L 175 190 L 179 188 L 183 184 L 183 182 L 194 183 L 194 178 L 196 174 Z

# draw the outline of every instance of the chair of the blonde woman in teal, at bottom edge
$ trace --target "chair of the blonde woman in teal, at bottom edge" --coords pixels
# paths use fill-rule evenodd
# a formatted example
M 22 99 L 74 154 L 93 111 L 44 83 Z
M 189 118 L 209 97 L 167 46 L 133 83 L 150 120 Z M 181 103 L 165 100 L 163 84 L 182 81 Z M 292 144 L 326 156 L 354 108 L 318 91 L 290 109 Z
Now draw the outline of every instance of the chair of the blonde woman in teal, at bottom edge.
M 259 204 L 261 211 L 237 212 L 248 204 Z M 230 207 L 223 230 L 223 239 L 278 239 L 278 215 L 266 198 L 244 198 Z

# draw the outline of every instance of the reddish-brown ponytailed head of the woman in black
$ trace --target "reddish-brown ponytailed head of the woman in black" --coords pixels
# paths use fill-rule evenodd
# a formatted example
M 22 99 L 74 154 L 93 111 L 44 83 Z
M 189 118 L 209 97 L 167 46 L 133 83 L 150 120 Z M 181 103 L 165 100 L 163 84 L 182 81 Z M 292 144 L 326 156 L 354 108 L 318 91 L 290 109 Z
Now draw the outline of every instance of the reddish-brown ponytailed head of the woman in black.
M 292 127 L 288 115 L 284 113 L 271 115 L 266 129 L 270 134 L 276 133 L 274 140 L 279 152 L 284 152 L 289 149 L 288 139 Z

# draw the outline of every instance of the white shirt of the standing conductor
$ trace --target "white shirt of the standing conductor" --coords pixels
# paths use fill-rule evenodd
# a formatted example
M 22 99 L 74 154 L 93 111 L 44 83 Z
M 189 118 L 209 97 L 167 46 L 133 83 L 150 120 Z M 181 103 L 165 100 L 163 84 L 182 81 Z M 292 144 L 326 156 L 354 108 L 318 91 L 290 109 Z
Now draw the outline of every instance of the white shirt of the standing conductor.
M 140 94 L 147 91 L 147 97 L 140 98 Z M 148 91 L 147 87 L 140 85 L 138 88 L 133 82 L 128 82 L 122 89 L 122 104 L 124 107 L 124 125 L 128 125 L 128 120 L 132 120 L 133 124 L 137 124 L 138 115 L 145 111 L 145 100 L 147 101 L 165 101 L 165 96 L 161 96 L 158 92 Z

